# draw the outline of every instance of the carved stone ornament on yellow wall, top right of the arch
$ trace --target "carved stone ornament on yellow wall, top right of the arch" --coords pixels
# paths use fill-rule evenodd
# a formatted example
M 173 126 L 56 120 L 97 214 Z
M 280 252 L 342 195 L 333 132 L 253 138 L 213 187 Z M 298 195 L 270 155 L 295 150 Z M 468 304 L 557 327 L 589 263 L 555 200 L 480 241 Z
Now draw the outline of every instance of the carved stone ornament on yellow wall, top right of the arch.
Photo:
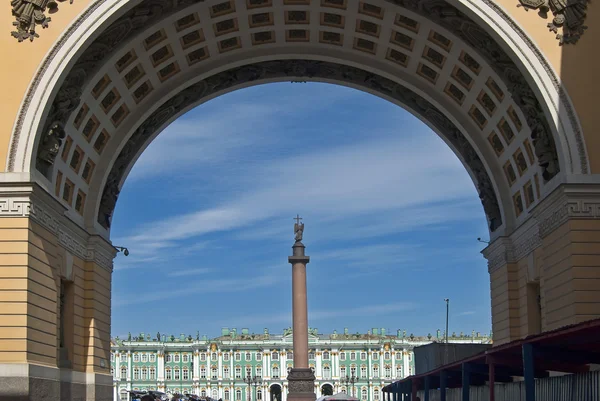
M 538 9 L 542 18 L 548 18 L 551 12 L 554 18 L 548 23 L 548 29 L 556 33 L 560 44 L 577 43 L 587 26 L 583 25 L 589 0 L 519 0 L 525 10 Z M 562 33 L 559 33 L 562 28 Z

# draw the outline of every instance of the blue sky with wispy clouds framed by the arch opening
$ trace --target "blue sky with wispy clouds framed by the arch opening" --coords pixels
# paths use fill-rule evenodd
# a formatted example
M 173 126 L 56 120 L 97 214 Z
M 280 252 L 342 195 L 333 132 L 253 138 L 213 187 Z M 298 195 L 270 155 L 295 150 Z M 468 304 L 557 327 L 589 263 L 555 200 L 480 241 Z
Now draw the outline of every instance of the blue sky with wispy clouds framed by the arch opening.
M 489 332 L 483 208 L 444 142 L 353 89 L 278 83 L 223 95 L 137 161 L 113 218 L 112 334 L 291 326 L 304 218 L 309 324 Z

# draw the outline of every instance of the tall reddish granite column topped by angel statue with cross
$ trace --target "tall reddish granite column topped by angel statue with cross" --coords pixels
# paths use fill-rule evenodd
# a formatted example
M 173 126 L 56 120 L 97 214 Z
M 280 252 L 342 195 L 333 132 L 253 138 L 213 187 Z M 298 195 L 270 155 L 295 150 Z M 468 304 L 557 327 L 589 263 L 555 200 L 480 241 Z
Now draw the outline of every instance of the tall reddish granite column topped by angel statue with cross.
M 296 243 L 288 261 L 292 264 L 292 320 L 294 341 L 294 367 L 288 372 L 289 401 L 314 401 L 315 374 L 308 367 L 308 304 L 306 300 L 306 264 L 310 258 L 304 254 L 302 234 L 304 223 L 296 215 L 294 234 Z

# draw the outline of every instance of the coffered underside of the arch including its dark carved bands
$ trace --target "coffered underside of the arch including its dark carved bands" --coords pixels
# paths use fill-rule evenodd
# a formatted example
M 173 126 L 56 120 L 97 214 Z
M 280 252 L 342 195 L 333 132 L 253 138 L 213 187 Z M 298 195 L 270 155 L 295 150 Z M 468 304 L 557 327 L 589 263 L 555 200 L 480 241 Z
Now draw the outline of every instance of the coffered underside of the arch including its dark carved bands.
M 108 236 L 127 173 L 168 123 L 286 80 L 352 86 L 421 118 L 471 174 L 493 236 L 526 219 L 572 152 L 504 46 L 445 1 L 145 0 L 64 74 L 31 163 L 73 220 Z

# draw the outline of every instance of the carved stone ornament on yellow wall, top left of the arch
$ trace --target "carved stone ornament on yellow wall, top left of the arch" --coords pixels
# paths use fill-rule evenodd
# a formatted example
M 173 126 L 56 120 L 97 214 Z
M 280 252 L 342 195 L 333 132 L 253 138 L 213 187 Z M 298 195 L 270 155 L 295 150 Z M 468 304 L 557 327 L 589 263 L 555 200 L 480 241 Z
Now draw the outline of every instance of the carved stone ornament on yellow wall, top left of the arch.
M 73 4 L 73 0 L 70 3 Z M 33 39 L 39 38 L 40 35 L 35 32 L 36 26 L 48 28 L 51 20 L 46 16 L 46 11 L 53 13 L 58 10 L 56 0 L 12 0 L 10 5 L 12 14 L 17 17 L 17 20 L 13 22 L 17 30 L 12 31 L 11 35 L 19 42 L 26 39 L 33 42 Z

